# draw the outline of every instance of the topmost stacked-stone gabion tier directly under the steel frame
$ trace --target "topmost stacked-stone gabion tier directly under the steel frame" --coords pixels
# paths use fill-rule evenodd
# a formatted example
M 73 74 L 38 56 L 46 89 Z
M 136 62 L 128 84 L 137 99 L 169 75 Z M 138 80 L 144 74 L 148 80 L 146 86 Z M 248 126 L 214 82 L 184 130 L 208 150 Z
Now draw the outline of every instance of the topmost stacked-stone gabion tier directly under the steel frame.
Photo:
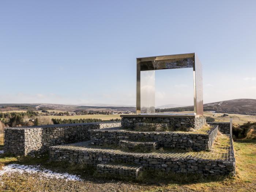
M 167 124 L 174 131 L 186 131 L 188 128 L 200 129 L 206 123 L 204 117 L 122 117 L 121 126 L 123 129 L 135 129 L 138 123 Z

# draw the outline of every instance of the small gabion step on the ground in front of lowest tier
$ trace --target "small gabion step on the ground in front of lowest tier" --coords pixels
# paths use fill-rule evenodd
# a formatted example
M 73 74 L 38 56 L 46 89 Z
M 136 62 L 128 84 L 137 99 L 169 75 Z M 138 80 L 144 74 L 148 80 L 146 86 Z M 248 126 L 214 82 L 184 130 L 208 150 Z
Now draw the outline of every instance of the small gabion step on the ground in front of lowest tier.
M 98 173 L 138 177 L 142 167 L 123 163 L 101 163 L 97 165 Z

